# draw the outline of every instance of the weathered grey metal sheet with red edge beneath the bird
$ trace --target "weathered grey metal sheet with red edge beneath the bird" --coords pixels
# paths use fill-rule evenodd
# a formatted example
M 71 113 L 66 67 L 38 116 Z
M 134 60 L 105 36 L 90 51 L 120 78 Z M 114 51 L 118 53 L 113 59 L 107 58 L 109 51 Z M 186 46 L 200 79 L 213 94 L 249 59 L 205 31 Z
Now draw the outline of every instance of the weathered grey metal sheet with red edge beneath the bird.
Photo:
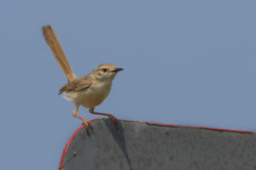
M 108 119 L 80 127 L 63 151 L 62 170 L 256 170 L 256 134 Z

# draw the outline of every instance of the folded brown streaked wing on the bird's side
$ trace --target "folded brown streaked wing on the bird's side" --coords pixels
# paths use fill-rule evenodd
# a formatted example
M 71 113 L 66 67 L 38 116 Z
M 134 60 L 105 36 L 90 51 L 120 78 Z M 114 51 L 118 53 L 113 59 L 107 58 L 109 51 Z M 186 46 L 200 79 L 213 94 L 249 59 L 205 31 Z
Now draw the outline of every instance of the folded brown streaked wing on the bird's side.
M 67 82 L 59 91 L 59 94 L 63 92 L 77 92 L 84 88 L 89 88 L 91 85 L 90 77 L 88 75 L 79 77 L 72 82 Z

